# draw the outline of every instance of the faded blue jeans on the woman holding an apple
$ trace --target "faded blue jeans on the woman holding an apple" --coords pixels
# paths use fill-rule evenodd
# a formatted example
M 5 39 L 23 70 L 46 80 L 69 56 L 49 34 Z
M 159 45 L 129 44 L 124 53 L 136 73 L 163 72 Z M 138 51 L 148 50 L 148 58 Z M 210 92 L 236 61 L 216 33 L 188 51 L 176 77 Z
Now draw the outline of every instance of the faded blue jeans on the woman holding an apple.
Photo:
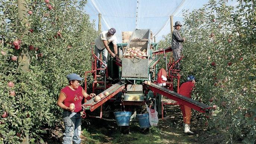
M 63 112 L 63 121 L 65 132 L 62 144 L 80 144 L 81 143 L 81 116 L 80 112 Z

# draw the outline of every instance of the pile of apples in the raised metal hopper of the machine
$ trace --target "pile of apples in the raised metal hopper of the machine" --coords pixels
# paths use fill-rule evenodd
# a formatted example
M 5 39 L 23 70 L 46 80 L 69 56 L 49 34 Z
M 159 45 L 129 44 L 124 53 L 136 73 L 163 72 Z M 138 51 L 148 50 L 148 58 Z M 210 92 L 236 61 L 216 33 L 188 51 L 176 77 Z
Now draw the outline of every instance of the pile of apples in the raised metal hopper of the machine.
M 147 50 L 143 49 L 143 51 L 140 51 L 140 49 L 132 47 L 128 48 L 127 51 L 124 53 L 125 58 L 134 58 L 134 57 L 139 57 L 142 59 L 147 58 Z

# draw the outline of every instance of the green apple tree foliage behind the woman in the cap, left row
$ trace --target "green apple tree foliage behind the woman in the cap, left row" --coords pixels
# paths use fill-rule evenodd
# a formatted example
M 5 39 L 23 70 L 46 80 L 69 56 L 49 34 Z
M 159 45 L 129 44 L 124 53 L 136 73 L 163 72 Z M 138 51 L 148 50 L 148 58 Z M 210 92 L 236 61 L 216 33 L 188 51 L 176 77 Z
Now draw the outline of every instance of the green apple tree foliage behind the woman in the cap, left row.
M 60 90 L 68 83 L 66 75 L 78 73 L 83 76 L 91 66 L 90 43 L 97 31 L 89 17 L 83 12 L 86 0 L 50 0 L 49 10 L 44 1 L 26 0 L 27 9 L 33 14 L 18 22 L 17 1 L 0 1 L 0 113 L 9 115 L 0 118 L 0 143 L 19 143 L 20 137 L 28 132 L 31 143 L 44 132 L 42 127 L 59 125 L 61 109 L 56 100 Z M 29 31 L 33 29 L 33 31 Z M 21 40 L 20 50 L 12 42 Z M 29 71 L 23 72 L 18 61 L 10 60 L 13 55 L 29 50 Z M 89 66 L 89 67 L 88 67 Z M 13 88 L 7 87 L 13 81 Z M 10 90 L 15 96 L 10 96 Z M 19 134 L 18 134 L 19 133 Z

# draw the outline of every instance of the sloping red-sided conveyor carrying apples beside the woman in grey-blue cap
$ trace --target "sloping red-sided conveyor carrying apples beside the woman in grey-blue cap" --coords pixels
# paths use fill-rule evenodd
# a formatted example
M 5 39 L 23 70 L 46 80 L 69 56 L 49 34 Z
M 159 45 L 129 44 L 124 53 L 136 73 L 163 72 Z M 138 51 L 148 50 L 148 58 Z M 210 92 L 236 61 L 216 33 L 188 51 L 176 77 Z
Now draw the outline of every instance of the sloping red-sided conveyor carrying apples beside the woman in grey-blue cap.
M 85 110 L 90 110 L 91 112 L 94 111 L 103 103 L 107 102 L 107 100 L 109 100 L 111 97 L 115 96 L 118 92 L 121 92 L 124 89 L 125 84 L 126 83 L 121 83 L 121 82 L 114 84 L 113 86 L 105 90 L 109 92 L 108 96 L 105 96 L 103 99 L 99 100 L 98 102 L 94 102 L 94 97 L 93 97 L 92 99 L 84 103 L 82 106 L 84 106 Z

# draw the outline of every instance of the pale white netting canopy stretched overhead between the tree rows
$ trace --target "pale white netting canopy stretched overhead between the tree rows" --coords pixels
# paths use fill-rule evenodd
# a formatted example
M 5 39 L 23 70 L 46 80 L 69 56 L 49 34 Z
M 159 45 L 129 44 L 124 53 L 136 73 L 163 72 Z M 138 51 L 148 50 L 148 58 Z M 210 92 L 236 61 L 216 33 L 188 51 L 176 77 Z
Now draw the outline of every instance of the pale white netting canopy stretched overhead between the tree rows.
M 101 30 L 116 29 L 118 42 L 122 42 L 121 32 L 134 29 L 151 29 L 156 42 L 171 31 L 170 16 L 173 23 L 183 24 L 183 10 L 199 9 L 209 0 L 88 0 L 85 12 L 90 20 L 95 20 L 98 30 L 98 14 L 101 14 Z M 237 1 L 228 1 L 236 6 Z

